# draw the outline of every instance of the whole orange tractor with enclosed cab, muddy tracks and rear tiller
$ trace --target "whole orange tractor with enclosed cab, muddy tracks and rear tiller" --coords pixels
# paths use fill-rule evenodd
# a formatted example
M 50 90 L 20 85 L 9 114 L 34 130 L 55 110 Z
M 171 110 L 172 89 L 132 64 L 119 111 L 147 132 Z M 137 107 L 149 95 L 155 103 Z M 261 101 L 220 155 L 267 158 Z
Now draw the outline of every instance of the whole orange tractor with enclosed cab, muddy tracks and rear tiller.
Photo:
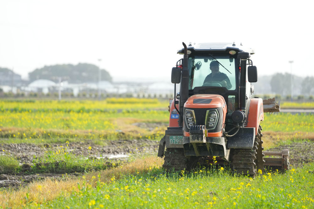
M 230 165 L 233 173 L 250 176 L 264 172 L 264 166 L 288 170 L 288 150 L 263 152 L 260 122 L 264 112 L 279 112 L 280 107 L 274 98 L 252 97 L 254 50 L 235 43 L 182 44 L 177 53 L 183 59 L 171 71 L 175 85 L 169 127 L 158 149 L 163 167 L 171 172 Z

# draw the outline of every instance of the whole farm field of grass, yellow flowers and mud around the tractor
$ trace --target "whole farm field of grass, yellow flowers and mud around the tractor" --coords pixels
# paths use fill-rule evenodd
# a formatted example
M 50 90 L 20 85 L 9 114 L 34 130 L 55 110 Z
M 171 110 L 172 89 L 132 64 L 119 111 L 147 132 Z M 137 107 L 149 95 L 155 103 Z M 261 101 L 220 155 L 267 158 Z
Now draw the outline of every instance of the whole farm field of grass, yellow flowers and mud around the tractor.
M 265 150 L 290 149 L 284 174 L 253 179 L 219 166 L 169 174 L 156 157 L 168 105 L 0 101 L 0 208 L 313 208 L 312 114 L 265 114 Z

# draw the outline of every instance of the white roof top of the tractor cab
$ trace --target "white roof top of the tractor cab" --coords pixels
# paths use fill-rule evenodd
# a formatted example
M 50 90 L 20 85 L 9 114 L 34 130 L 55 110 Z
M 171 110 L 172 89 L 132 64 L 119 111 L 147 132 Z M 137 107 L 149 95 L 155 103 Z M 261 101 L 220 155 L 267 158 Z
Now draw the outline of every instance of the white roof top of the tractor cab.
M 229 50 L 236 50 L 238 52 L 249 52 L 251 55 L 254 54 L 254 50 L 251 48 L 245 47 L 242 44 L 233 43 L 200 43 L 194 44 L 191 43 L 187 46 L 187 50 L 195 52 L 223 52 Z M 177 54 L 184 54 L 184 48 L 177 51 Z

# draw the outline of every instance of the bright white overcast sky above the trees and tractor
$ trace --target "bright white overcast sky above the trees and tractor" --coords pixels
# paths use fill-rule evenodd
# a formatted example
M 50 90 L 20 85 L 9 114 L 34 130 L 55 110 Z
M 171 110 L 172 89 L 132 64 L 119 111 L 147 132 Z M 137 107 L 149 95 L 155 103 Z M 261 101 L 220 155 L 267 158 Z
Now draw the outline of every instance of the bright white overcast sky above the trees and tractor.
M 114 77 L 164 77 L 182 42 L 253 48 L 259 75 L 314 76 L 312 1 L 1 0 L 0 67 L 91 63 Z M 101 62 L 98 59 L 102 59 Z M 95 75 L 98 76 L 98 75 Z

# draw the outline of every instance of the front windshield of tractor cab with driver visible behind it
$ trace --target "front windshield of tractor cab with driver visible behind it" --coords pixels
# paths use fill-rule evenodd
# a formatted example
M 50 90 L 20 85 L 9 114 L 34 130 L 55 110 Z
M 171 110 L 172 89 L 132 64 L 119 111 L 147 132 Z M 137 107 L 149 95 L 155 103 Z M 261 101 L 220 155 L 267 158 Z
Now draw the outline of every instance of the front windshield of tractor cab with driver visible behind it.
M 190 56 L 188 60 L 189 90 L 199 86 L 236 89 L 236 62 L 221 55 Z

